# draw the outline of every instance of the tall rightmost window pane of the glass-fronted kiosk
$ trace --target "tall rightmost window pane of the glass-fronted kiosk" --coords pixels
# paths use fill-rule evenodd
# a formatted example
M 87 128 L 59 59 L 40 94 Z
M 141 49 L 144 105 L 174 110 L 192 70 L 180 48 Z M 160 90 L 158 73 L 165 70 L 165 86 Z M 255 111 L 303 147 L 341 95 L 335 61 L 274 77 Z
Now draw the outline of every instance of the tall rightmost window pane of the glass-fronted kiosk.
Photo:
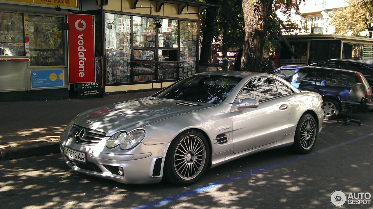
M 197 33 L 197 22 L 180 21 L 180 61 L 184 62 L 180 78 L 195 74 Z

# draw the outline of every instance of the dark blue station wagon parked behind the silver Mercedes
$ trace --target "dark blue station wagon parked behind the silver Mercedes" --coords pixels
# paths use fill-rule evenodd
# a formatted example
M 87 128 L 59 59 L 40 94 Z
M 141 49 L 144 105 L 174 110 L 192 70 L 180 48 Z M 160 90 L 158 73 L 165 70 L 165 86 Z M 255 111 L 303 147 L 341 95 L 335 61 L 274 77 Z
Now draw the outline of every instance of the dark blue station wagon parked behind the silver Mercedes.
M 319 93 L 323 97 L 325 119 L 334 119 L 344 112 L 340 101 L 348 101 L 348 93 L 355 83 L 366 86 L 365 97 L 368 99 L 358 111 L 366 112 L 373 108 L 372 88 L 363 74 L 357 71 L 325 67 L 286 65 L 270 72 L 277 75 L 297 89 Z

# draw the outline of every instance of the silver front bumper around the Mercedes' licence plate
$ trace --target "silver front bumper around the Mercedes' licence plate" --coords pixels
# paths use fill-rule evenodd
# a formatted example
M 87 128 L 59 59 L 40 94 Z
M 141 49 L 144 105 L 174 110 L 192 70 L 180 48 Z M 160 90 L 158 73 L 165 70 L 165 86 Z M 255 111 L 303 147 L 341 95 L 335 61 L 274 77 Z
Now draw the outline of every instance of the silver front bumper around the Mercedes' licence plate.
M 105 150 L 106 140 L 97 145 L 87 146 L 63 139 L 61 136 L 60 150 L 66 164 L 73 170 L 104 179 L 111 179 L 126 184 L 158 183 L 162 180 L 163 164 L 166 156 L 166 144 L 145 145 L 122 151 L 118 147 Z M 86 164 L 72 160 L 63 153 L 63 146 L 86 153 Z M 123 175 L 118 168 L 123 168 Z

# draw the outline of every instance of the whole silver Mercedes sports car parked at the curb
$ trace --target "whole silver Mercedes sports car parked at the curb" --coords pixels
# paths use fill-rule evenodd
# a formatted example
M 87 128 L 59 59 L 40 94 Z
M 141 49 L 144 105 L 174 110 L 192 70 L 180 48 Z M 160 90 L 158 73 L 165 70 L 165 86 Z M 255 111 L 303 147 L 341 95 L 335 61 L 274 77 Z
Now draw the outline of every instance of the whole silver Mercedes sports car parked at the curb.
M 88 110 L 60 136 L 75 171 L 121 183 L 192 184 L 207 168 L 266 149 L 305 154 L 322 97 L 275 75 L 199 73 L 150 97 Z

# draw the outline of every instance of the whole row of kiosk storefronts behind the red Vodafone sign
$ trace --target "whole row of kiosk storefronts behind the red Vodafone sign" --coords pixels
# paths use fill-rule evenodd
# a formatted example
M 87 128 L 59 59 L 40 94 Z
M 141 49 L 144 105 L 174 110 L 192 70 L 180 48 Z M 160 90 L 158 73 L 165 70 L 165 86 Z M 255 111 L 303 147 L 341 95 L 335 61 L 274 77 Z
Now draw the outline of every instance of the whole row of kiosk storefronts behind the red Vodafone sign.
M 0 0 L 0 101 L 157 90 L 198 72 L 195 0 Z M 69 14 L 94 22 L 93 83 L 71 82 Z M 70 26 L 70 27 L 69 27 Z

